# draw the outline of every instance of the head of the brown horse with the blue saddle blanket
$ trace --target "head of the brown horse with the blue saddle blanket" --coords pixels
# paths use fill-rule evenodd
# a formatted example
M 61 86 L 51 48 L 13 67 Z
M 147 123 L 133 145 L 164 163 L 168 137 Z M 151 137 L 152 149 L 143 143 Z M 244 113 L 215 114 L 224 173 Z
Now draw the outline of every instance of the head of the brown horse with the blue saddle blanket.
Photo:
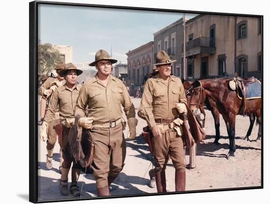
M 205 92 L 199 80 L 194 81 L 192 86 L 193 89 L 190 97 L 189 107 L 194 112 L 199 108 L 200 104 L 205 101 Z

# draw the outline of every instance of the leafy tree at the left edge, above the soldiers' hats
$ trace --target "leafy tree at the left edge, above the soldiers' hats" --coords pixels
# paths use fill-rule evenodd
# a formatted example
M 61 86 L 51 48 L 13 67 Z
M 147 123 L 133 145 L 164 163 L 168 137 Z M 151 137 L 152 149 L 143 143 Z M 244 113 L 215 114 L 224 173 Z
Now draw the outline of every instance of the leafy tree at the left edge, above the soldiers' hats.
M 52 72 L 57 63 L 62 63 L 59 51 L 50 43 L 38 43 L 38 75 Z

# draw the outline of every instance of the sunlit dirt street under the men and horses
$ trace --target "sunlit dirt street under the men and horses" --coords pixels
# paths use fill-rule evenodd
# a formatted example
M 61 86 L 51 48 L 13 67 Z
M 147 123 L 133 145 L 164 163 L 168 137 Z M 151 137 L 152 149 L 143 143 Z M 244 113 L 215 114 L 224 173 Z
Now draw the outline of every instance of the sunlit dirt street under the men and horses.
M 138 108 L 140 99 L 132 99 L 135 108 Z M 152 168 L 151 154 L 140 133 L 146 122 L 139 119 L 137 137 L 133 141 L 126 141 L 127 156 L 123 171 L 110 187 L 110 194 L 131 195 L 155 193 L 156 188 L 149 187 L 148 172 Z M 261 142 L 255 142 L 259 126 L 253 127 L 250 136 L 251 142 L 243 138 L 249 127 L 249 118 L 237 116 L 236 118 L 236 153 L 234 160 L 227 160 L 229 139 L 225 123 L 220 116 L 220 145 L 214 145 L 215 126 L 214 119 L 209 110 L 206 110 L 207 137 L 197 145 L 196 168 L 187 169 L 187 191 L 220 189 L 234 187 L 250 187 L 261 185 Z M 38 127 L 40 128 L 40 126 Z M 128 128 L 127 128 L 128 129 Z M 124 131 L 127 135 L 127 129 Z M 59 145 L 54 148 L 53 169 L 47 170 L 46 142 L 38 143 L 38 198 L 39 200 L 57 200 L 74 198 L 61 196 L 59 193 Z M 189 163 L 189 151 L 186 151 L 186 160 Z M 166 170 L 169 191 L 174 191 L 174 168 L 168 163 Z M 69 174 L 69 181 L 71 174 Z M 79 178 L 81 197 L 95 197 L 95 180 L 92 175 L 83 174 Z

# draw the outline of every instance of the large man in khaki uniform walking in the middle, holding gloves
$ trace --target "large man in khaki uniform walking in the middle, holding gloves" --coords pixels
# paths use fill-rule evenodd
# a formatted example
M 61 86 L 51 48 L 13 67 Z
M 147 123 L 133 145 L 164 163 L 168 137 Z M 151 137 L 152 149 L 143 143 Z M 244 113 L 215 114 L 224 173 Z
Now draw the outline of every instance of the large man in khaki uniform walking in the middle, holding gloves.
M 109 196 L 108 186 L 122 171 L 126 156 L 123 134 L 122 106 L 128 118 L 128 138 L 135 138 L 137 119 L 124 83 L 110 75 L 112 63 L 108 52 L 99 50 L 95 61 L 98 73 L 81 87 L 75 107 L 75 117 L 81 117 L 78 125 L 90 129 L 94 143 L 93 169 L 98 196 Z M 88 117 L 84 109 L 88 105 Z

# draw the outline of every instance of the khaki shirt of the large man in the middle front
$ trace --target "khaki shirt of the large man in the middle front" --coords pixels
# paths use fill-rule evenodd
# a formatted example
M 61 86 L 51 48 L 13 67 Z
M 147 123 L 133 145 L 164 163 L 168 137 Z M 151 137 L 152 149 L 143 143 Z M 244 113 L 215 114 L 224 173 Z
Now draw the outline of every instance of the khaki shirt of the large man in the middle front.
M 94 121 L 108 122 L 122 117 L 122 106 L 127 118 L 135 118 L 135 108 L 124 83 L 116 77 L 109 76 L 107 87 L 97 75 L 81 87 L 75 107 L 75 116 L 85 117 L 88 105 L 88 117 Z

